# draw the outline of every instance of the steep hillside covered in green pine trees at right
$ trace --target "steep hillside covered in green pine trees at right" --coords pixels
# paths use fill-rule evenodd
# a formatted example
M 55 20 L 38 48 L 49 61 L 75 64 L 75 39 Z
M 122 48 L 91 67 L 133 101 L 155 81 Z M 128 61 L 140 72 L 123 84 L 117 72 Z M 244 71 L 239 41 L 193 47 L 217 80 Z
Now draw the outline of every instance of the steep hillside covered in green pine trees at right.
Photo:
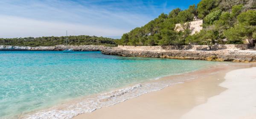
M 191 34 L 189 21 L 204 20 Z M 175 29 L 180 23 L 183 30 Z M 188 9 L 162 13 L 145 26 L 122 35 L 120 45 L 244 44 L 256 39 L 256 0 L 201 0 Z

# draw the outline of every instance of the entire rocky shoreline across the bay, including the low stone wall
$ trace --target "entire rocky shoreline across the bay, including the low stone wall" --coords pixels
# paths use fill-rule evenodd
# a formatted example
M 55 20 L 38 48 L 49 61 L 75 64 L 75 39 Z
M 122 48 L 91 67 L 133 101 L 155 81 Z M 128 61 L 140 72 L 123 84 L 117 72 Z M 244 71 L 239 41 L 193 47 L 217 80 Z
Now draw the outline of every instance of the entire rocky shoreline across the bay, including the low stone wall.
M 222 45 L 215 48 L 213 47 L 214 49 L 211 50 L 207 49 L 208 46 L 0 46 L 0 50 L 62 51 L 66 48 L 73 48 L 75 51 L 101 51 L 102 54 L 124 57 L 256 62 L 256 50 L 248 50 L 246 49 L 246 45 Z

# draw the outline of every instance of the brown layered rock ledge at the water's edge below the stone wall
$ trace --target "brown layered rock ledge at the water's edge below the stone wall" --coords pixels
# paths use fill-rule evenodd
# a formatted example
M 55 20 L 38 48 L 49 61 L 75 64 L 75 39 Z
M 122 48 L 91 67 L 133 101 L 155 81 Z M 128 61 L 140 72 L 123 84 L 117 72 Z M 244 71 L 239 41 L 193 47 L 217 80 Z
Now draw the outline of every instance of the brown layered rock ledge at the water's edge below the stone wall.
M 102 50 L 103 54 L 125 57 L 154 57 L 173 59 L 198 59 L 207 61 L 256 62 L 256 51 L 250 50 L 128 50 L 111 48 Z

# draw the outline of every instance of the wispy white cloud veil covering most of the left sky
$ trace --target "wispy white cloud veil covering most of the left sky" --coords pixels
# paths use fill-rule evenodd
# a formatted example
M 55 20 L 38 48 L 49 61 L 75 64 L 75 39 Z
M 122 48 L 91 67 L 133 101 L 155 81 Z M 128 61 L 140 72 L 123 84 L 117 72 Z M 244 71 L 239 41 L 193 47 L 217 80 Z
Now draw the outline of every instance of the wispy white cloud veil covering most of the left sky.
M 111 5 L 87 2 L 1 0 L 0 38 L 62 36 L 66 29 L 70 35 L 116 38 L 151 19 L 139 13 L 111 8 Z

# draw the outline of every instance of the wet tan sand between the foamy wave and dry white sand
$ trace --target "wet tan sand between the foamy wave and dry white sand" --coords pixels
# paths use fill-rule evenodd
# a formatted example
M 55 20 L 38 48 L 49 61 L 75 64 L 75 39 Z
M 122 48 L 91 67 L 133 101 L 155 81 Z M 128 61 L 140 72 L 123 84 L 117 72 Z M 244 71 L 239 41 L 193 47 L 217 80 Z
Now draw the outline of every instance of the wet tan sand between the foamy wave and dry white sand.
M 256 64 L 231 64 L 206 71 L 196 71 L 194 73 L 198 77 L 193 80 L 145 93 L 124 102 L 97 109 L 91 113 L 83 113 L 73 119 L 169 119 L 170 116 L 173 119 L 180 119 L 194 107 L 207 103 L 209 98 L 229 90 L 226 87 L 219 86 L 227 80 L 225 79 L 227 73 L 250 67 L 256 67 Z M 169 78 L 170 76 L 161 80 Z

